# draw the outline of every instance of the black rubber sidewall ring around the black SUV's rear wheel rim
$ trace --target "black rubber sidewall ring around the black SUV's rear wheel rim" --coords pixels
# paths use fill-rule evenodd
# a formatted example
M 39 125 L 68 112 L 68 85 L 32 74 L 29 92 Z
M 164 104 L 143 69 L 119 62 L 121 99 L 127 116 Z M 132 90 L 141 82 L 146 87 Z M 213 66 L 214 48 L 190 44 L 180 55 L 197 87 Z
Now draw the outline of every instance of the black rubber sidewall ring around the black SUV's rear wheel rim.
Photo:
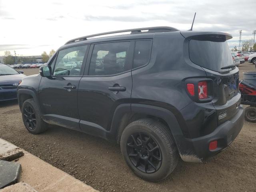
M 132 162 L 130 161 L 130 159 L 128 157 L 127 148 L 126 148 L 127 140 L 130 137 L 130 135 L 135 132 L 144 132 L 146 134 L 149 134 L 155 140 L 155 142 L 157 142 L 157 144 L 160 147 L 160 150 L 162 153 L 162 163 L 160 165 L 160 168 L 154 173 L 144 173 L 144 172 L 138 170 L 132 164 Z M 163 178 L 168 176 L 170 166 L 171 166 L 170 159 L 169 159 L 170 156 L 168 155 L 168 151 L 166 150 L 167 149 L 166 144 L 164 144 L 163 140 L 161 140 L 161 138 L 158 136 L 158 134 L 156 132 L 154 132 L 153 130 L 150 130 L 150 128 L 147 128 L 146 126 L 128 125 L 127 128 L 122 133 L 120 144 L 121 144 L 121 152 L 122 152 L 122 155 L 124 156 L 126 163 L 128 164 L 128 166 L 132 169 L 132 171 L 136 175 L 140 176 L 141 178 L 143 178 L 145 180 L 149 180 L 149 181 L 153 181 L 153 182 L 162 180 Z

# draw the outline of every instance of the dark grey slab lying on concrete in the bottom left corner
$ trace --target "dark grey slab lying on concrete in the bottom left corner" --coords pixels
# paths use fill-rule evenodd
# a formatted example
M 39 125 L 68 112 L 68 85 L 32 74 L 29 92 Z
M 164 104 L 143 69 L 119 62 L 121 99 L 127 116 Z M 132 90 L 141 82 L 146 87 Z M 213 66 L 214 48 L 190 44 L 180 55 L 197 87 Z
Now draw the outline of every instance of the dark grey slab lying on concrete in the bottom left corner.
M 18 183 L 20 172 L 20 164 L 0 160 L 0 189 Z

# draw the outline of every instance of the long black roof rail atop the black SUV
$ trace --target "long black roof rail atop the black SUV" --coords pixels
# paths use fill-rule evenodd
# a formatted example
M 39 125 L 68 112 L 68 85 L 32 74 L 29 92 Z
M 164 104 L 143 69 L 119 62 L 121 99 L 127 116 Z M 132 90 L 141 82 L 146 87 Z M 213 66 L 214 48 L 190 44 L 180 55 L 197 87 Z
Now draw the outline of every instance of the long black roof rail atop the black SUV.
M 110 32 L 105 32 L 105 33 L 98 33 L 98 34 L 78 37 L 78 38 L 69 40 L 68 42 L 65 43 L 65 45 L 70 44 L 70 43 L 74 43 L 74 42 L 85 41 L 89 37 L 96 37 L 96 36 L 115 34 L 115 33 L 131 32 L 130 34 L 138 34 L 138 33 L 154 33 L 154 32 L 172 32 L 172 31 L 178 31 L 178 29 L 173 28 L 173 27 L 168 27 L 168 26 L 145 27 L 145 28 L 137 28 L 137 29 L 125 29 L 125 30 L 110 31 Z

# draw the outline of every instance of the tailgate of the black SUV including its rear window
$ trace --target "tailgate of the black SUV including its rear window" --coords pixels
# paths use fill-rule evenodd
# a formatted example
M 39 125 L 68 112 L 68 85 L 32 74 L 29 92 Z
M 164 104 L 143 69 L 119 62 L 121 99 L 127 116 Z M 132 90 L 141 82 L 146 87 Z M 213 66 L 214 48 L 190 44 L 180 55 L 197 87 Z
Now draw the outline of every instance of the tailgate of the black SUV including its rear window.
M 239 70 L 234 65 L 226 39 L 212 36 L 193 37 L 189 42 L 190 60 L 201 66 L 213 80 L 214 98 L 212 103 L 217 110 L 218 124 L 229 120 L 240 105 Z

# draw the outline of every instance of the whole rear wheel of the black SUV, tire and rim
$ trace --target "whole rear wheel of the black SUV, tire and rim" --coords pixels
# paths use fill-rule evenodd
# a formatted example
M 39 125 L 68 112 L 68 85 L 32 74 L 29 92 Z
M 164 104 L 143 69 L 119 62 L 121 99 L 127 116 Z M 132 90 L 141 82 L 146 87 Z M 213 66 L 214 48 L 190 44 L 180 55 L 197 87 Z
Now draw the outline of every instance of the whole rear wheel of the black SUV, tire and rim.
M 163 180 L 178 164 L 174 138 L 164 124 L 152 119 L 130 123 L 122 133 L 120 145 L 127 165 L 144 180 Z

